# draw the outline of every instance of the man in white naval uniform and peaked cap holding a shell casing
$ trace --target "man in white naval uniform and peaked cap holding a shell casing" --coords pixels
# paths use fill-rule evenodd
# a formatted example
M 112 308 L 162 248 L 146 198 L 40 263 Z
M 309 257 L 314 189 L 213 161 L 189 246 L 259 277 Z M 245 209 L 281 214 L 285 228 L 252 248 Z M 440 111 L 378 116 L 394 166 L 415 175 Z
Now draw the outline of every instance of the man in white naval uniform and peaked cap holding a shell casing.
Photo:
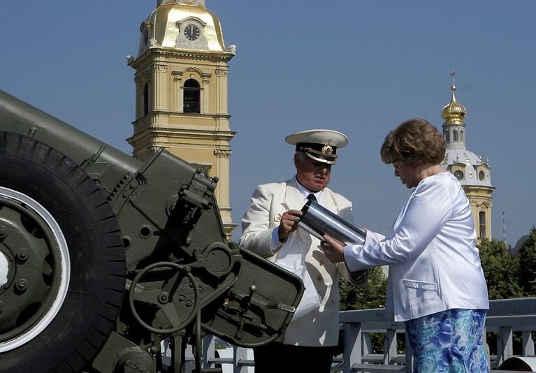
M 348 143 L 332 130 L 293 133 L 285 140 L 296 145 L 296 176 L 279 183 L 262 184 L 242 218 L 240 244 L 300 276 L 305 293 L 282 338 L 254 349 L 255 372 L 330 372 L 338 344 L 339 273 L 362 284 L 366 271 L 348 274 L 319 249 L 320 241 L 298 229 L 301 208 L 314 198 L 326 209 L 353 223 L 352 203 L 327 188 L 337 149 Z

